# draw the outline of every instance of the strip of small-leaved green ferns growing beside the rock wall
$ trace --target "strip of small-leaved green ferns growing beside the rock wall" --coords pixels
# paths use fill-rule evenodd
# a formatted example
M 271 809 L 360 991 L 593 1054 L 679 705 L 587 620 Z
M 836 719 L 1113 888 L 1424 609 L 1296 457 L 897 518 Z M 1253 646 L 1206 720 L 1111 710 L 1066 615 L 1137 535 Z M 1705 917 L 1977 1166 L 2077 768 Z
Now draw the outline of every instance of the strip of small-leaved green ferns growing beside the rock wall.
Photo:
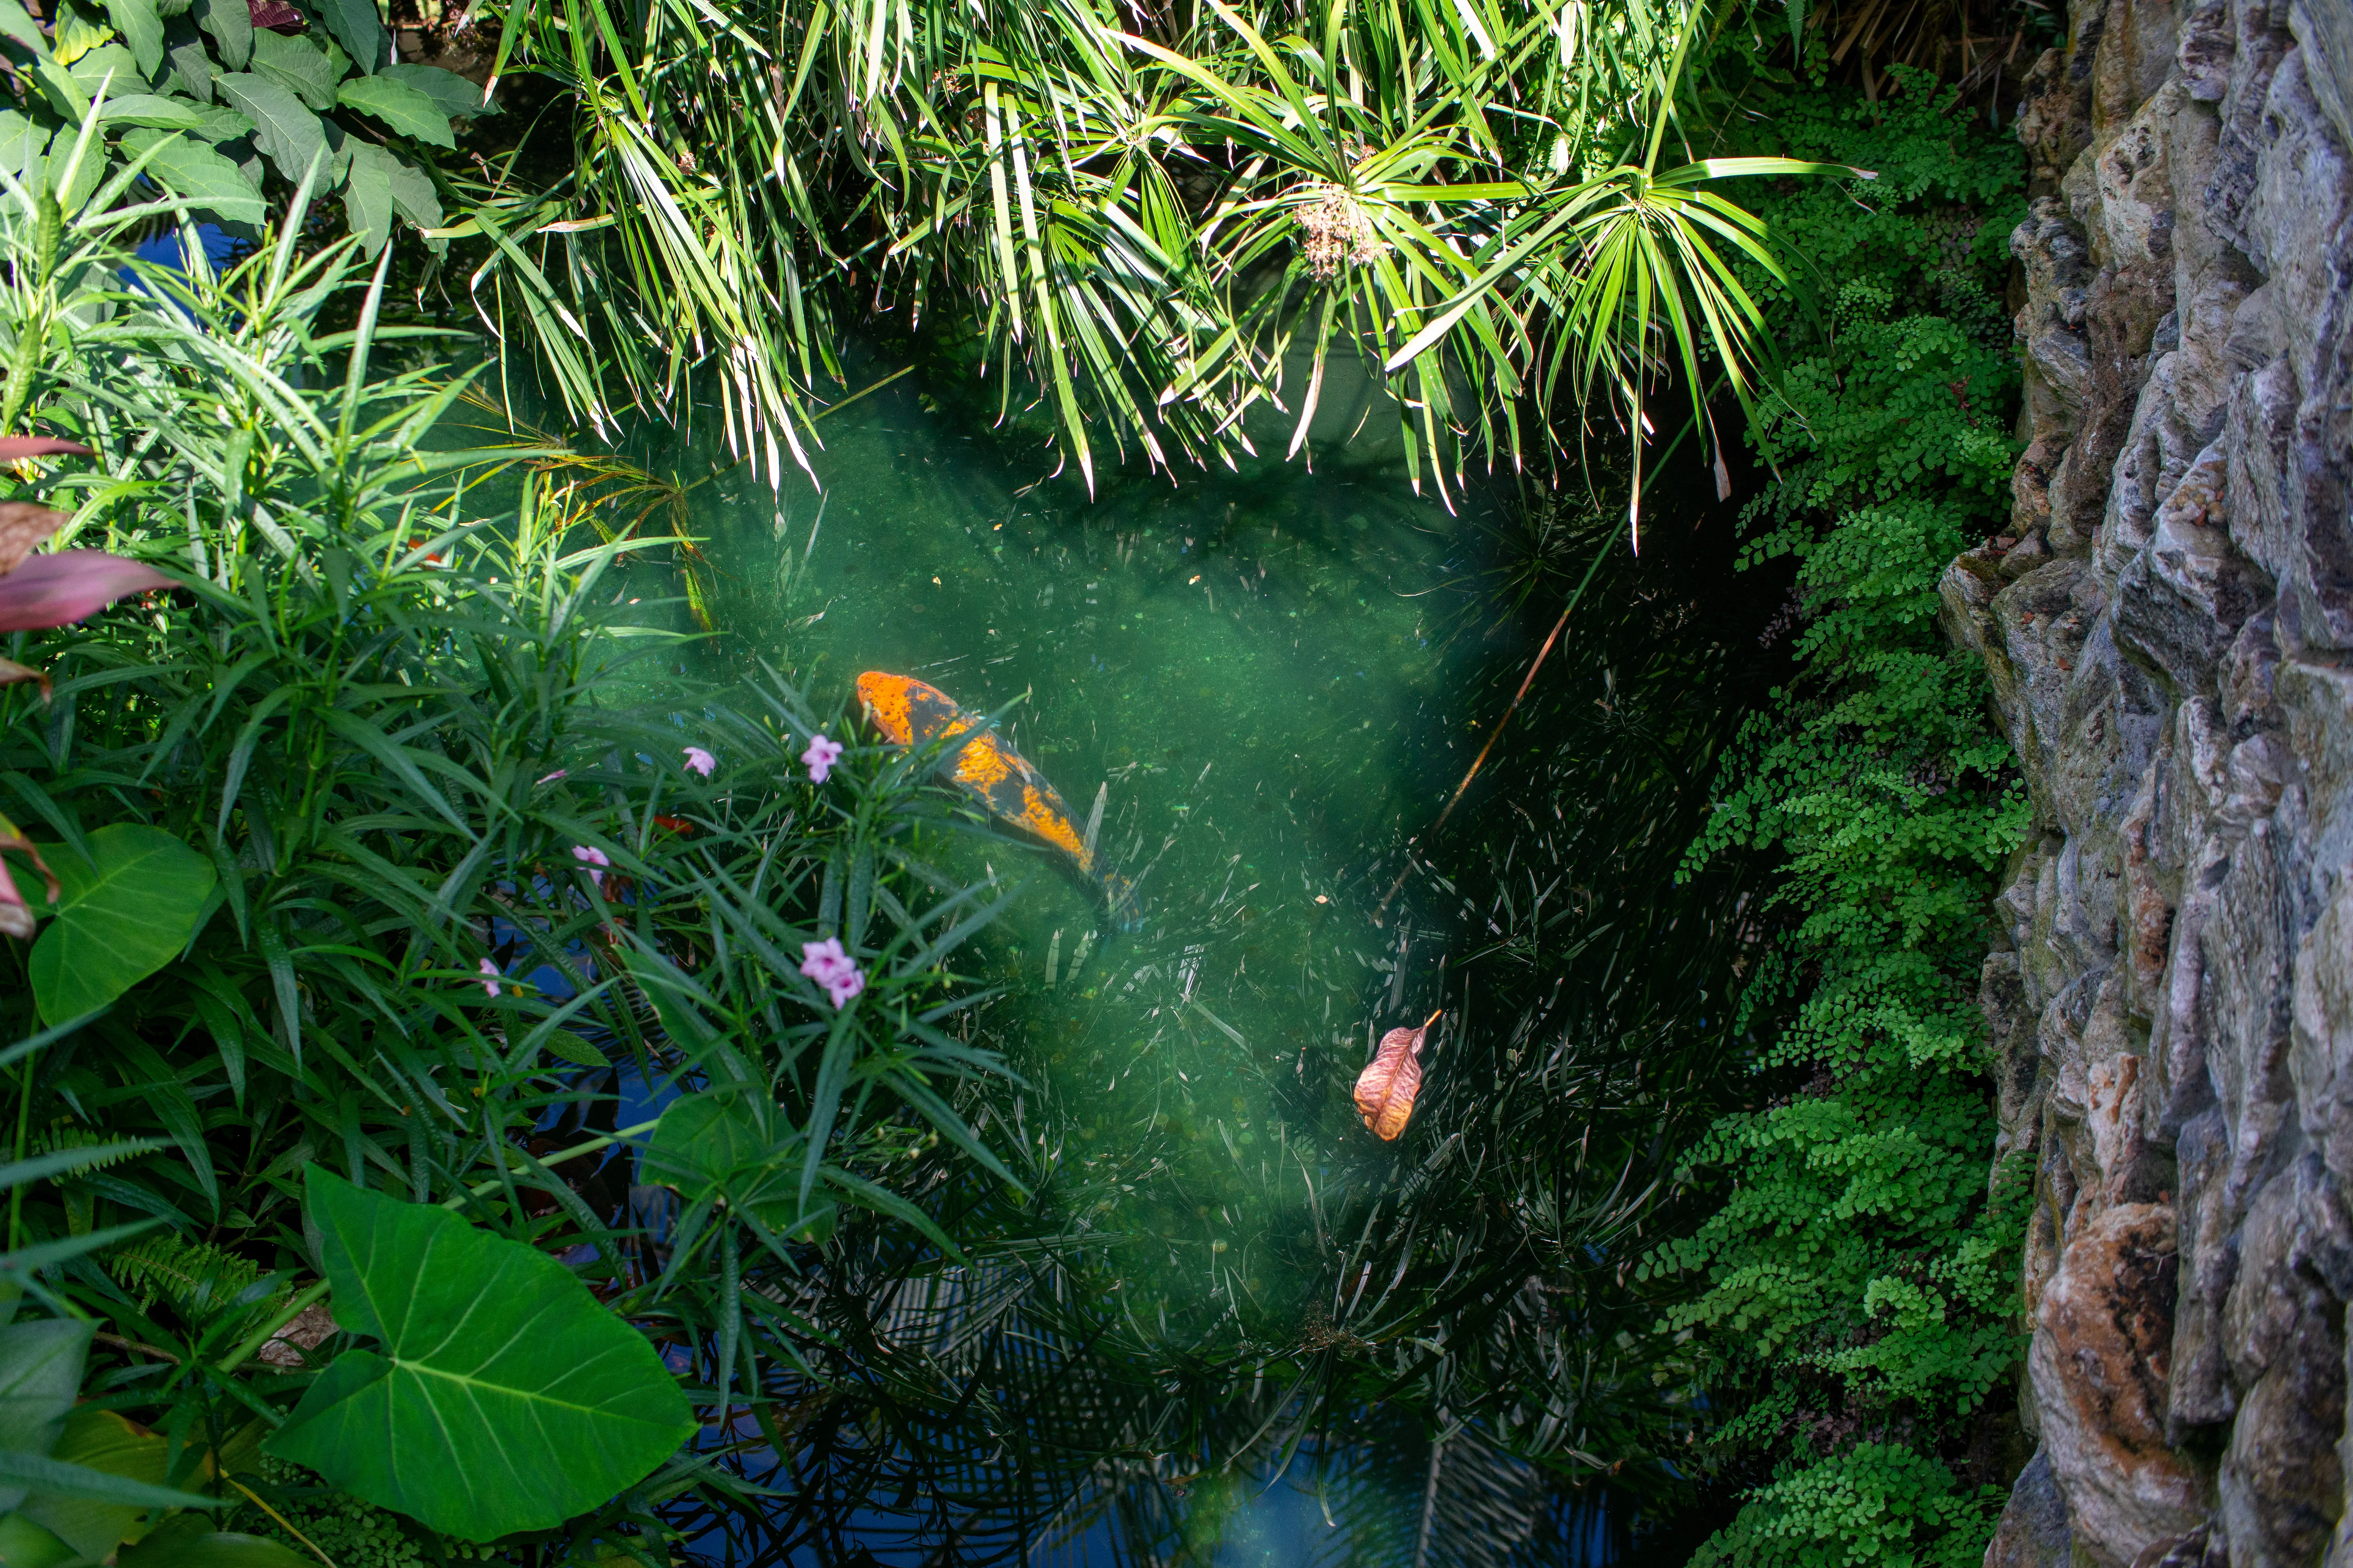
M 1777 146 L 1835 141 L 1880 181 L 1767 207 L 1835 268 L 1821 334 L 1762 407 L 1777 482 L 1744 557 L 1795 562 L 1800 672 L 1751 722 L 1687 860 L 1755 846 L 1784 872 L 1786 926 L 1741 1006 L 1769 1032 L 1760 1084 L 1795 1093 L 1699 1140 L 1689 1175 L 1722 1206 L 1645 1265 L 1701 1284 L 1666 1326 L 1697 1335 L 1725 1458 L 1814 1434 L 1953 1443 L 2017 1356 L 2024 1192 L 1986 1178 L 1974 980 L 2028 809 L 1984 675 L 1934 616 L 1946 562 L 2007 510 L 2017 369 L 1974 235 L 2007 230 L 2019 172 L 1946 122 L 1929 80 L 1899 80 L 1875 108 L 1767 94 Z M 1777 1474 L 1708 1561 L 1974 1561 L 1986 1523 L 1934 1458 L 1864 1441 Z

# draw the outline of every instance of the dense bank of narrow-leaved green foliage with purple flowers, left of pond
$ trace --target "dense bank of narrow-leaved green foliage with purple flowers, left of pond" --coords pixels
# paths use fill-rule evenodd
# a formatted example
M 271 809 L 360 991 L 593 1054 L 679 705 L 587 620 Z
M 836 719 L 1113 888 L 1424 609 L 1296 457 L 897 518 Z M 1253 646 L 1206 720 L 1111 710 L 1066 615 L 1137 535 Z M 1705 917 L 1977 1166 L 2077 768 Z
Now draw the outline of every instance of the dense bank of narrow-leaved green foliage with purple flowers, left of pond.
M 948 969 L 1002 900 L 934 870 L 953 816 L 927 759 L 852 745 L 819 790 L 795 755 L 821 724 L 849 733 L 842 715 L 772 679 L 640 675 L 675 639 L 624 621 L 619 574 L 659 595 L 645 557 L 668 541 L 574 548 L 567 454 L 452 449 L 466 376 L 414 357 L 428 334 L 381 324 L 386 268 L 360 270 L 358 237 L 304 254 L 296 209 L 216 270 L 186 212 L 132 190 L 115 176 L 71 214 L 0 193 L 7 395 L 96 449 L 12 468 L 7 498 L 71 510 L 59 543 L 104 541 L 179 585 L 7 644 L 54 677 L 49 703 L 0 691 L 12 811 L 89 886 L 129 851 L 153 860 L 115 877 L 148 898 L 108 929 L 151 940 L 104 1011 L 0 1051 L 16 1128 L 0 1272 L 56 1314 L 0 1335 L 80 1335 L 59 1410 L 104 1394 L 181 1458 L 172 1488 L 92 1481 L 47 1455 L 42 1418 L 0 1434 L 0 1488 L 212 1507 L 176 1488 L 235 1481 L 235 1434 L 299 1410 L 280 1443 L 409 1509 L 445 1556 L 435 1523 L 586 1542 L 624 1519 L 659 1530 L 645 1509 L 685 1490 L 734 1505 L 694 1460 L 638 1488 L 694 1429 L 647 1333 L 680 1347 L 689 1385 L 741 1389 L 767 1420 L 758 1389 L 821 1333 L 793 1305 L 812 1237 L 939 1237 L 908 1194 L 962 1157 L 1005 1175 L 953 1103 L 1002 1067 L 955 1034 L 972 994 Z M 172 216 L 186 273 L 127 254 Z M 71 891 L 33 910 L 31 945 L 0 945 L 0 1025 L 33 1023 L 42 943 L 101 903 Z M 800 973 L 824 938 L 866 976 L 854 1001 Z M 633 1154 L 600 1168 L 654 1126 L 614 1126 L 624 1074 L 758 1095 L 744 1157 L 791 1171 L 791 1222 L 696 1194 L 649 1227 Z M 911 1152 L 934 1133 L 936 1159 Z M 369 1234 L 416 1246 L 388 1262 Z M 296 1314 L 329 1293 L 381 1349 L 318 1373 L 273 1335 L 315 1347 L 332 1328 Z M 499 1314 L 504 1352 L 480 1331 Z M 475 1331 L 442 1333 L 459 1321 Z M 424 1429 L 414 1396 L 442 1356 L 468 1399 Z M 522 1410 L 614 1368 L 605 1394 L 652 1410 L 626 1441 L 600 1410 Z M 398 1481 L 369 1476 L 386 1422 L 400 1453 L 431 1455 Z M 191 1469 L 207 1450 L 219 1479 Z M 468 1474 L 511 1507 L 452 1502 Z M 202 1530 L 144 1556 L 273 1552 Z

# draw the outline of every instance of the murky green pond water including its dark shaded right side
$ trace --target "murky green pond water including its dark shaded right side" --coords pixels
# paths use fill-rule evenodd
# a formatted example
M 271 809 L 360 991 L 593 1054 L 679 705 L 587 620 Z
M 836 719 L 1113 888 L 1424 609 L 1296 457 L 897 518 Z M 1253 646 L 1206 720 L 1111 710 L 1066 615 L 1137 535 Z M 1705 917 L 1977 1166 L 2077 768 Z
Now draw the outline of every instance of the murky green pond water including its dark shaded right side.
M 1727 508 L 1668 477 L 1635 562 L 1584 496 L 1449 515 L 1369 440 L 1087 498 L 920 378 L 824 435 L 821 501 L 704 491 L 704 656 L 1002 708 L 1146 919 L 1009 839 L 946 851 L 1028 886 L 965 959 L 1026 1086 L 965 1110 L 1033 1194 L 939 1178 L 965 1265 L 828 1253 L 786 1302 L 807 1378 L 725 1455 L 769 1490 L 678 1521 L 696 1556 L 1678 1561 L 1720 1500 L 1673 1465 L 1689 1373 L 1635 1265 L 1725 1107 L 1758 910 L 1675 875 L 1779 668 Z M 1351 1084 L 1440 1009 L 1384 1145 Z

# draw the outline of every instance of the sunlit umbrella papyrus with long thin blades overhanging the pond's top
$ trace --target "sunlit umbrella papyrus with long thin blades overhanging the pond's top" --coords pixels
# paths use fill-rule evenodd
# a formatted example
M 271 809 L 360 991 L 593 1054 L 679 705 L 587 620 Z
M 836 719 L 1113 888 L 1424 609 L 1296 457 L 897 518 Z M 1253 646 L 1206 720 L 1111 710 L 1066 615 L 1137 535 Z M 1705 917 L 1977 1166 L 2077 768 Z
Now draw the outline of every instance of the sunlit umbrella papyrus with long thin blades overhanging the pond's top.
M 678 414 L 807 463 L 852 310 L 948 315 L 1092 480 L 1099 449 L 1308 444 L 1334 353 L 1395 397 L 1417 484 L 1555 451 L 1553 404 L 1765 364 L 1786 282 L 1692 158 L 1701 7 L 1120 7 L 1113 0 L 513 0 L 501 71 L 553 78 L 574 169 L 480 209 L 485 317 L 572 409 Z M 1668 143 L 1685 160 L 1661 167 Z M 1261 416 L 1264 418 L 1264 416 Z M 1574 428 L 1560 421 L 1558 428 Z M 1261 425 L 1264 430 L 1264 425 Z

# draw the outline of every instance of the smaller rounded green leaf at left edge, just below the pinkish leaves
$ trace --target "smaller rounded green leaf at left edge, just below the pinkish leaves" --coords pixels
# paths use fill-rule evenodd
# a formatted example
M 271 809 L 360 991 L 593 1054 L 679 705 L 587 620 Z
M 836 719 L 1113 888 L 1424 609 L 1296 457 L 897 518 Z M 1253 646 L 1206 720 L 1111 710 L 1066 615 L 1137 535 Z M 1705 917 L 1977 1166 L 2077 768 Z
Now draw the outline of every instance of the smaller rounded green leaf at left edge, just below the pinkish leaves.
M 179 957 L 219 877 L 209 858 L 136 823 L 99 827 L 85 844 L 96 865 L 42 849 L 66 884 L 26 964 L 47 1023 L 101 1009 Z

